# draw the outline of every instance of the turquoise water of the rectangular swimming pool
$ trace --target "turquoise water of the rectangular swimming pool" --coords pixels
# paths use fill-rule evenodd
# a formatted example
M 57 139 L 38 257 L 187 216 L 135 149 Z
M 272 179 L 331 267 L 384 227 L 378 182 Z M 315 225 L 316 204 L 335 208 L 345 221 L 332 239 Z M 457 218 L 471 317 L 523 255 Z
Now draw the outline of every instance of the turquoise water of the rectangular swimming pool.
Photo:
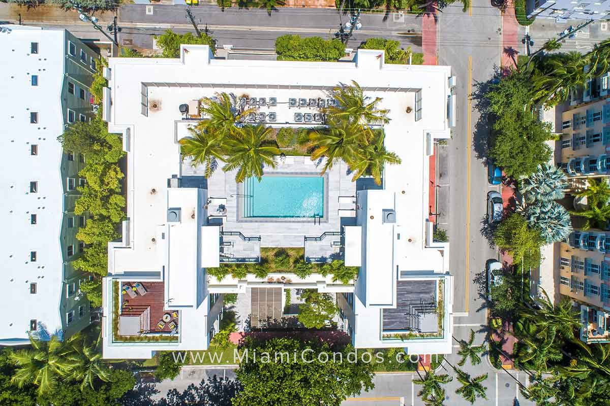
M 324 217 L 324 177 L 265 175 L 244 182 L 243 217 Z

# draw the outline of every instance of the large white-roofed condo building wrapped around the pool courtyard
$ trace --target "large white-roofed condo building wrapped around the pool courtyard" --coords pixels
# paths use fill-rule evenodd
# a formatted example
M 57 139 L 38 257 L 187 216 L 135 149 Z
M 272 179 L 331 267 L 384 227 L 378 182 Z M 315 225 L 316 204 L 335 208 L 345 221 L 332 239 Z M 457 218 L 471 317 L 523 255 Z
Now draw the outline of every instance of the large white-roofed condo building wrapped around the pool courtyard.
M 357 348 L 451 353 L 449 245 L 432 242 L 428 185 L 434 139 L 450 137 L 455 79 L 449 66 L 383 61 L 383 51 L 362 49 L 350 62 L 216 60 L 198 45 L 183 45 L 174 59 L 110 58 L 103 117 L 123 135 L 129 193 L 123 239 L 109 244 L 102 284 L 104 358 L 207 349 L 223 294 L 239 294 L 238 326 L 246 329 L 247 320 L 264 327 L 288 316 L 285 297 L 296 289 L 336 294 L 339 326 Z M 323 163 L 308 156 L 278 157 L 262 182 L 239 184 L 235 170 L 204 178 L 203 167 L 181 160 L 179 140 L 201 120 L 201 97 L 234 93 L 240 105 L 259 107 L 248 117 L 253 123 L 310 128 L 322 125 L 318 109 L 333 102 L 329 91 L 351 80 L 390 110 L 385 143 L 402 164 L 386 168 L 381 187 L 357 191 L 342 161 L 320 176 Z M 291 187 L 278 195 L 274 180 Z M 298 200 L 304 189 L 311 193 Z M 292 200 L 314 215 L 278 204 Z M 359 276 L 219 281 L 207 273 L 226 262 L 258 262 L 265 247 L 304 248 L 310 262 L 343 259 Z

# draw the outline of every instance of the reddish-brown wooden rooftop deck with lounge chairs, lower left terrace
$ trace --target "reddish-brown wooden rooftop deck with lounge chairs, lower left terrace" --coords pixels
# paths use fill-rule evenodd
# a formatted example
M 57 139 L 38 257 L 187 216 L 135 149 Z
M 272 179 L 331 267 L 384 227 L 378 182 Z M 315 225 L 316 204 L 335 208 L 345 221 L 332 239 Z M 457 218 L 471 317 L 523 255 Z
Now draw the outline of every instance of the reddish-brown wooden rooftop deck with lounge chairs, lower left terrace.
M 165 310 L 164 302 L 164 283 L 163 282 L 140 282 L 146 289 L 146 295 L 140 296 L 139 294 L 135 298 L 129 297 L 129 295 L 123 295 L 121 290 L 121 315 L 123 316 L 139 316 L 142 312 L 150 307 L 150 326 L 148 326 L 149 332 L 171 332 L 168 324 L 165 323 L 163 329 L 157 329 L 157 323 L 162 320 L 165 313 L 171 313 Z M 135 282 L 132 283 L 132 285 Z M 127 304 L 124 301 L 127 300 Z M 176 325 L 179 324 L 179 319 L 173 320 Z

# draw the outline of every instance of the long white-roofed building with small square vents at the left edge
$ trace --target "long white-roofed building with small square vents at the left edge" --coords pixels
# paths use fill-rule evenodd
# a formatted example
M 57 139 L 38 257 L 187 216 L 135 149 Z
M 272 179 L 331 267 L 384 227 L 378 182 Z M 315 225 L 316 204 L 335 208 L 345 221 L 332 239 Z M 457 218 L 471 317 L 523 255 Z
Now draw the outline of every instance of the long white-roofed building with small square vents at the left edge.
M 82 156 L 62 151 L 57 136 L 92 117 L 89 86 L 98 55 L 70 32 L 0 26 L 0 219 L 4 281 L 0 345 L 68 337 L 90 324 L 71 262 L 83 250 L 73 213 Z

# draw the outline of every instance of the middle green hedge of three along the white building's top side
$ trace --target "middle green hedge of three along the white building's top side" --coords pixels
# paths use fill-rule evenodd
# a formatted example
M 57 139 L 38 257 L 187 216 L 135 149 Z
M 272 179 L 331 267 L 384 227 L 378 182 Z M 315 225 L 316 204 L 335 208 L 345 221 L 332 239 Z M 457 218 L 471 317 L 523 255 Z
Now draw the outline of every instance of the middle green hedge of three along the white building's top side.
M 278 37 L 275 50 L 279 61 L 337 61 L 345 55 L 345 45 L 340 40 L 291 34 Z

